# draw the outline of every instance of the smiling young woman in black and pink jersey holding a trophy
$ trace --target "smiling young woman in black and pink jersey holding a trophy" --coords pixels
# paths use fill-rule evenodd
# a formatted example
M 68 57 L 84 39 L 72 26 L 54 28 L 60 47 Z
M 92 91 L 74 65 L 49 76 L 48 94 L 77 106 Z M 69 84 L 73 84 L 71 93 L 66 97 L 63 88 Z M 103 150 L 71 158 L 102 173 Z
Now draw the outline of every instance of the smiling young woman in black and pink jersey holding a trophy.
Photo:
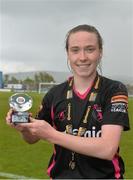
M 98 74 L 103 43 L 97 29 L 79 25 L 66 38 L 73 76 L 44 97 L 36 119 L 14 126 L 28 143 L 54 144 L 48 174 L 58 179 L 122 179 L 119 155 L 123 130 L 129 130 L 128 95 L 118 81 Z

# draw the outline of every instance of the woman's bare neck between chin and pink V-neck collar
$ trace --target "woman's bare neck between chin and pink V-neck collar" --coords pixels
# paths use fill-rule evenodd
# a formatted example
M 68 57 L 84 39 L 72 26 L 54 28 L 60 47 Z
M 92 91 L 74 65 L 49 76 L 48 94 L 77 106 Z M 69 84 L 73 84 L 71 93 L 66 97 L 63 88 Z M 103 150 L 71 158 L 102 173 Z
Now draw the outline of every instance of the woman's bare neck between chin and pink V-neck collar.
M 92 86 L 93 81 L 96 77 L 96 73 L 89 77 L 76 77 L 74 76 L 74 87 L 79 93 L 84 93 L 86 90 Z

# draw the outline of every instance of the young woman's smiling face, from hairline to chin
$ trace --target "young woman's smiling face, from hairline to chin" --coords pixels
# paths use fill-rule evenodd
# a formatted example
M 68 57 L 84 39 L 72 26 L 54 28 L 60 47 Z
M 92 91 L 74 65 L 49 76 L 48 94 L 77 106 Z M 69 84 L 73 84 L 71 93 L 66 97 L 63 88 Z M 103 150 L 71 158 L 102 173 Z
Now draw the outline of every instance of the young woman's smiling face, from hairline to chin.
M 102 56 L 97 35 L 93 32 L 71 33 L 68 40 L 67 57 L 75 77 L 94 77 Z

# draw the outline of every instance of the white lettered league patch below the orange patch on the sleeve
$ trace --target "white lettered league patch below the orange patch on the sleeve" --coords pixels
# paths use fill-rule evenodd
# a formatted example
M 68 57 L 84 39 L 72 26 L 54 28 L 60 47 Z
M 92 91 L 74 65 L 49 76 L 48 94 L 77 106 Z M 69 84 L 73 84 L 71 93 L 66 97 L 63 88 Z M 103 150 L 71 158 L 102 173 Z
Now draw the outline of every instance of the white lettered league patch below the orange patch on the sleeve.
M 127 104 L 126 103 L 113 103 L 111 106 L 111 112 L 127 113 Z

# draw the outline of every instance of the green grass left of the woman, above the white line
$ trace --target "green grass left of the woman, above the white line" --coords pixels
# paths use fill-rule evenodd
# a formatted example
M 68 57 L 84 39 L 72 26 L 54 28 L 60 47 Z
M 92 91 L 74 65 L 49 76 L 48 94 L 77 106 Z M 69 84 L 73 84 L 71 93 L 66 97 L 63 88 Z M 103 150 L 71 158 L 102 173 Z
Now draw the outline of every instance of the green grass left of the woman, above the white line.
M 33 98 L 33 116 L 41 102 L 39 94 L 29 94 Z M 24 142 L 18 132 L 5 123 L 11 93 L 0 92 L 0 172 L 35 178 L 48 178 L 47 164 L 52 153 L 52 145 L 40 141 L 30 145 Z M 2 179 L 2 177 L 1 177 Z

